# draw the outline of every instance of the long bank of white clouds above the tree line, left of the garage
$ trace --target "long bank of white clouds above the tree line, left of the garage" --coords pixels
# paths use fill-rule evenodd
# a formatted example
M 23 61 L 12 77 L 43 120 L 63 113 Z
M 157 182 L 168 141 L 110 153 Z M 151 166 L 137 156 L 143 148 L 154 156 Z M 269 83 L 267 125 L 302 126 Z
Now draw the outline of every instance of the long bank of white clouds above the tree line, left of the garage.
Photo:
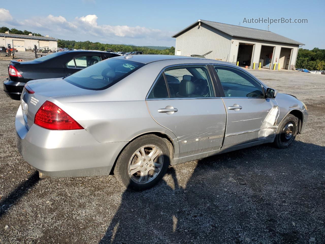
M 24 29 L 44 35 L 49 34 L 59 39 L 154 46 L 174 46 L 175 43 L 170 37 L 172 33 L 159 29 L 144 26 L 99 25 L 97 20 L 95 14 L 76 17 L 72 21 L 68 21 L 63 16 L 50 14 L 47 17 L 38 16 L 18 22 L 11 16 L 9 10 L 0 8 L 0 24 L 8 23 L 13 27 L 22 25 Z

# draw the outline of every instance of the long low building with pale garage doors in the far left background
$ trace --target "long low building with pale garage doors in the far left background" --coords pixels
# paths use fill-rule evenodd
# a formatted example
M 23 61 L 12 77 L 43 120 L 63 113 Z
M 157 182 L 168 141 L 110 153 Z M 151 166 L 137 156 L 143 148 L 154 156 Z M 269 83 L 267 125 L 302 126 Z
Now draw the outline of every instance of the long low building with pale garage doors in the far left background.
M 33 49 L 34 45 L 37 48 L 49 47 L 51 50 L 58 49 L 58 40 L 53 37 L 0 33 L 0 46 L 7 47 L 8 44 L 19 52 Z

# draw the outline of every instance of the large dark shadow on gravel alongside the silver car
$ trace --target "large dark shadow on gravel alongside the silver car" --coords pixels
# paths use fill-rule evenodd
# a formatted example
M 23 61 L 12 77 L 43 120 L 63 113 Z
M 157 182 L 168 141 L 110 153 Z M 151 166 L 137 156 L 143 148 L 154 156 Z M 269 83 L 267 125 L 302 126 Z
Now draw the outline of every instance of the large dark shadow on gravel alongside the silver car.
M 255 146 L 199 160 L 185 188 L 170 167 L 168 183 L 123 193 L 99 243 L 324 243 L 324 158 L 300 141 Z

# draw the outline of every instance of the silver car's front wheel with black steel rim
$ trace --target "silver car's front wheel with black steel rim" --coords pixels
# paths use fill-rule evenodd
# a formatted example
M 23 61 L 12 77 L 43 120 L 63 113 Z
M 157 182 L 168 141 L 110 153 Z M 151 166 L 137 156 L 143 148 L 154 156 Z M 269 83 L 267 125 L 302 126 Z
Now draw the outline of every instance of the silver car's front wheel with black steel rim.
M 298 118 L 292 114 L 288 114 L 279 124 L 274 145 L 277 148 L 289 147 L 298 133 Z

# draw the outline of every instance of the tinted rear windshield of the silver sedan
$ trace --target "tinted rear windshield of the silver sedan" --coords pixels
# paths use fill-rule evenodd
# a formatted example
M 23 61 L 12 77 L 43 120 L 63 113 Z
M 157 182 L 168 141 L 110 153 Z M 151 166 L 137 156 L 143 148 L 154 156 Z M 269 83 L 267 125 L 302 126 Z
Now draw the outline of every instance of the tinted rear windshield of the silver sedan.
M 88 90 L 104 90 L 116 84 L 145 64 L 124 59 L 107 59 L 64 78 Z

